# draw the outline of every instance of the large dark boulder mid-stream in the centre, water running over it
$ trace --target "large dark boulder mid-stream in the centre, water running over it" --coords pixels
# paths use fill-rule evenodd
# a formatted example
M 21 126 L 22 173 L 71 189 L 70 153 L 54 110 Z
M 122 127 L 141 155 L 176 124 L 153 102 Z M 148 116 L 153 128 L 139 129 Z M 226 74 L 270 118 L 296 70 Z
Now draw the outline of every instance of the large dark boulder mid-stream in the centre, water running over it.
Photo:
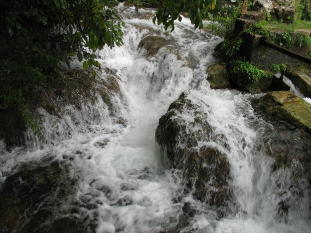
M 195 116 L 191 122 L 180 117 L 188 111 Z M 209 141 L 211 137 L 212 128 L 206 118 L 206 113 L 200 112 L 183 93 L 161 117 L 156 140 L 171 167 L 182 170 L 195 196 L 220 206 L 228 199 L 229 163 L 216 148 L 198 147 L 198 143 Z

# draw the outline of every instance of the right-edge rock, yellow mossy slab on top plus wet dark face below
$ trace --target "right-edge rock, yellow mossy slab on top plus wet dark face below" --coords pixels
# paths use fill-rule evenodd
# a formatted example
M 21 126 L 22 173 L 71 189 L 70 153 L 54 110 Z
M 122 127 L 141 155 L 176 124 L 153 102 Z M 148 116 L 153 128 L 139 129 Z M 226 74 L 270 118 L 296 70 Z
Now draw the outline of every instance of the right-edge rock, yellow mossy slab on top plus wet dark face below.
M 303 206 L 303 200 L 311 197 L 311 105 L 288 91 L 270 92 L 259 99 L 259 105 L 272 115 L 267 153 L 275 158 L 277 218 L 286 220 L 288 212 L 303 214 L 303 208 L 311 207 Z

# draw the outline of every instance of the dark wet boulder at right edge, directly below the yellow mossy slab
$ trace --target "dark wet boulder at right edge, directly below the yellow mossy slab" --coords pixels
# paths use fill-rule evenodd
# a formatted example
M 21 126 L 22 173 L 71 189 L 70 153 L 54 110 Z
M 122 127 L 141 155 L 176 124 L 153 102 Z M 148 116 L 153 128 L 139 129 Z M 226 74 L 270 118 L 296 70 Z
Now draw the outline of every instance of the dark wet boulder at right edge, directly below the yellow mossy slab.
M 264 118 L 273 128 L 263 136 L 263 140 L 266 142 L 266 154 L 273 158 L 267 188 L 273 190 L 274 196 L 265 198 L 272 200 L 275 219 L 288 221 L 290 216 L 306 218 L 311 207 L 306 205 L 311 198 L 311 137 L 282 120 L 284 118 L 280 115 L 270 113 L 266 111 Z

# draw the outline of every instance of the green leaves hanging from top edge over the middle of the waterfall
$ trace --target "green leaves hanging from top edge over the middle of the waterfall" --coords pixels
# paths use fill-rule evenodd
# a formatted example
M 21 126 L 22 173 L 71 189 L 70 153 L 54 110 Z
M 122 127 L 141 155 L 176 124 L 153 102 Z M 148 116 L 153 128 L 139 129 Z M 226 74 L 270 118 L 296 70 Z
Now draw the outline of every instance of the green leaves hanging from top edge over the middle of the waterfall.
M 191 24 L 193 24 L 195 28 L 202 29 L 202 20 L 207 19 L 208 17 L 213 19 L 208 10 L 214 9 L 215 4 L 216 0 L 164 0 L 163 8 L 160 8 L 156 12 L 152 22 L 155 24 L 157 21 L 158 25 L 163 24 L 165 30 L 171 26 L 171 31 L 174 31 L 174 21 L 177 19 L 182 21 L 180 14 L 182 12 L 188 12 Z

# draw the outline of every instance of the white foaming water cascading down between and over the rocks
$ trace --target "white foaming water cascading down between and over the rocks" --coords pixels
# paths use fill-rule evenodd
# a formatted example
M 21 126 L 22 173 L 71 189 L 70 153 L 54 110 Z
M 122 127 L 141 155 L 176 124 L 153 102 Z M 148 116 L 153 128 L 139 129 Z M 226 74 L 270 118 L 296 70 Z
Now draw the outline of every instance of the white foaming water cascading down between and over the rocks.
M 51 227 L 62 219 L 78 219 L 89 228 L 76 232 L 311 232 L 306 207 L 309 187 L 305 177 L 299 177 L 299 164 L 273 173 L 273 158 L 266 156 L 262 146 L 266 143 L 262 138 L 273 127 L 254 113 L 251 101 L 260 95 L 212 90 L 205 79 L 213 48 L 221 39 L 193 30 L 187 19 L 176 23 L 168 36 L 151 19 L 134 19 L 134 9 L 125 14 L 129 19 L 124 45 L 97 53 L 102 67 L 115 70 L 118 77 L 122 96 L 114 97 L 116 114 L 109 115 L 100 98 L 93 105 L 82 104 L 80 110 L 67 106 L 61 118 L 39 109 L 47 143 L 31 132 L 28 148 L 32 150 L 18 147 L 8 152 L 0 142 L 2 183 L 23 164 L 29 163 L 29 169 L 59 161 L 67 171 L 63 179 L 72 185 L 64 188 L 66 195 L 56 188 L 37 203 L 36 210 L 25 210 L 27 217 L 16 232 L 31 227 L 29 219 L 41 213 L 46 203 L 51 214 L 32 231 L 52 232 Z M 140 14 L 149 13 L 141 10 Z M 150 56 L 143 48 L 137 50 L 147 35 L 160 35 L 171 44 Z M 100 79 L 107 76 L 104 71 Z M 183 91 L 208 114 L 213 137 L 204 143 L 218 148 L 229 161 L 228 209 L 194 199 L 180 170 L 167 169 L 154 143 L 160 117 Z M 186 122 L 193 118 L 181 117 Z M 301 179 L 304 195 L 296 198 L 292 205 L 296 209 L 284 221 L 276 212 L 289 193 L 279 193 L 293 183 L 293 173 Z

